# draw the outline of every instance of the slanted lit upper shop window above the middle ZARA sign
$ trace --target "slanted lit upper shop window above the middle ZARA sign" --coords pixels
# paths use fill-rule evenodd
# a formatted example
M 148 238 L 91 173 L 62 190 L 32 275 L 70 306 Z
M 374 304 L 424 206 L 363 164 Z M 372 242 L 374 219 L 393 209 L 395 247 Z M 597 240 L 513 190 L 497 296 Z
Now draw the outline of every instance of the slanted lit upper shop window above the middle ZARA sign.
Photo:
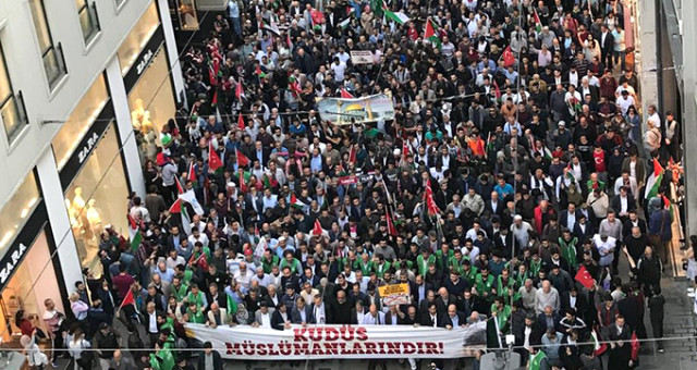
M 85 133 L 89 131 L 95 119 L 99 115 L 105 104 L 109 101 L 109 91 L 103 74 L 95 81 L 89 90 L 83 96 L 77 107 L 68 118 L 58 135 L 53 138 L 53 155 L 56 164 L 60 171 L 70 159 L 76 146 L 80 144 Z

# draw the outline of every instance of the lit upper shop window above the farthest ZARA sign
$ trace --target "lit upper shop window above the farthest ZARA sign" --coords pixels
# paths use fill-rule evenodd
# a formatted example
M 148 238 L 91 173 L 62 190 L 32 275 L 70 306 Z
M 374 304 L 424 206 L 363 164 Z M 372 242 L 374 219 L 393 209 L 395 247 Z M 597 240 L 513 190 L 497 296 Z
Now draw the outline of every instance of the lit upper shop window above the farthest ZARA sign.
M 117 50 L 119 63 L 121 63 L 122 76 L 125 76 L 129 70 L 131 70 L 140 50 L 148 44 L 159 25 L 160 18 L 157 14 L 156 2 L 152 2 L 145 11 L 145 14 L 140 16 L 138 23 L 133 27 L 131 34 L 123 40 L 119 50 Z

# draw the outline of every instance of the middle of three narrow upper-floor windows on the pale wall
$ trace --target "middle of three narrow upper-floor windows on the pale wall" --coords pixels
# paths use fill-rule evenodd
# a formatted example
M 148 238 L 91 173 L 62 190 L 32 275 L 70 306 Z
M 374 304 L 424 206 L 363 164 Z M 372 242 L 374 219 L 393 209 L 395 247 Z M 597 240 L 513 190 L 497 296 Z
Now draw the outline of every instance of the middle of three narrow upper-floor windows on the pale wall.
M 46 77 L 48 78 L 48 85 L 52 89 L 61 78 L 68 74 L 65 60 L 63 59 L 63 49 L 60 42 L 53 45 L 51 33 L 48 29 L 42 0 L 29 0 L 29 7 L 32 8 L 32 18 L 34 20 L 34 27 L 36 28 L 36 36 L 39 40 Z

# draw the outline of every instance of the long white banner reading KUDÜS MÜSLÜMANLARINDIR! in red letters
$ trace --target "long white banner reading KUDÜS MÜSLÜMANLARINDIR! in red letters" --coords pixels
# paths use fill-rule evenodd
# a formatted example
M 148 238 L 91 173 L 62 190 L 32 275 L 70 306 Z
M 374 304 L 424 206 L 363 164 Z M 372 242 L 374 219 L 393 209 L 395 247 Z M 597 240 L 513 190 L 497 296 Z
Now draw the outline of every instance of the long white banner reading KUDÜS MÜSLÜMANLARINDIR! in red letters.
M 248 325 L 186 324 L 188 336 L 211 342 L 225 359 L 460 358 L 486 344 L 486 322 L 452 330 L 412 325 L 294 325 L 288 330 Z

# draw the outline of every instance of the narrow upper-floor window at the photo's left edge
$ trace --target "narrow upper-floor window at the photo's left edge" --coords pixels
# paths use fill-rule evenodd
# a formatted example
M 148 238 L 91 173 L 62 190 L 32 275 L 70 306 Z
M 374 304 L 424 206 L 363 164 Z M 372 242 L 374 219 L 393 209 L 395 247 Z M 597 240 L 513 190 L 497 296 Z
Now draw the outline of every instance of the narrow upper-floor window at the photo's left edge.
M 4 63 L 4 53 L 0 47 L 0 115 L 4 132 L 8 135 L 8 141 L 17 136 L 22 128 L 28 123 L 26 111 L 24 110 L 24 100 L 22 91 L 16 94 L 12 90 L 12 83 L 8 74 L 8 67 Z

